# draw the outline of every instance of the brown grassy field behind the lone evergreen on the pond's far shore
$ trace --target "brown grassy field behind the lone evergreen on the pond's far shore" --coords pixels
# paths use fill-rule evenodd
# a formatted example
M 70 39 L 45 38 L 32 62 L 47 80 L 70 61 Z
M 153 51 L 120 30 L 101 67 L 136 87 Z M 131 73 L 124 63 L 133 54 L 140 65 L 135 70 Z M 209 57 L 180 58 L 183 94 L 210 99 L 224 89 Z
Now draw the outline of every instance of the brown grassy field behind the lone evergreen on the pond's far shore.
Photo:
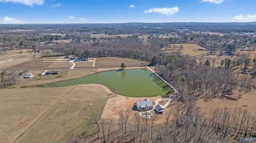
M 141 63 L 148 65 L 148 62 L 134 59 L 104 57 L 96 59 L 95 67 L 120 67 L 122 63 L 124 63 L 126 66 L 140 66 Z

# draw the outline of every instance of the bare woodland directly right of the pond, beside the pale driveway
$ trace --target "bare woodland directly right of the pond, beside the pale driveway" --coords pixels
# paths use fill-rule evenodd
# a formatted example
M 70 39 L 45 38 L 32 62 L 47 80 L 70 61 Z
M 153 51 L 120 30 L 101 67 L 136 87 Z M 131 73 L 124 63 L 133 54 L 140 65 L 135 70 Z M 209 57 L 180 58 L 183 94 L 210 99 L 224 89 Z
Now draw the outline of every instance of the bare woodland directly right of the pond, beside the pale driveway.
M 178 90 L 178 98 L 184 95 L 206 99 L 232 94 L 236 87 L 231 69 L 219 69 L 198 63 L 189 55 L 172 52 L 172 56 L 153 57 L 152 64 L 157 64 L 155 71 Z M 152 60 L 153 60 L 152 59 Z

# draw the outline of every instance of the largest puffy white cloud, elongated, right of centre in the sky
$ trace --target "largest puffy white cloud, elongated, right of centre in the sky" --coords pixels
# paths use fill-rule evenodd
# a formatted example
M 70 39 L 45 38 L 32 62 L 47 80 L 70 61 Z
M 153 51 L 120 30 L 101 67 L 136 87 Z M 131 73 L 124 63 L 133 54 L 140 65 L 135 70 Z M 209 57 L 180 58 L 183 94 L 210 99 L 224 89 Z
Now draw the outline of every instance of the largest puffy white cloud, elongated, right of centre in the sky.
M 170 16 L 172 14 L 175 14 L 175 13 L 179 12 L 179 8 L 177 6 L 173 7 L 173 8 L 150 8 L 149 10 L 146 10 L 143 13 L 147 14 L 147 13 L 152 13 L 152 12 L 156 12 L 156 13 L 165 14 L 165 15 Z

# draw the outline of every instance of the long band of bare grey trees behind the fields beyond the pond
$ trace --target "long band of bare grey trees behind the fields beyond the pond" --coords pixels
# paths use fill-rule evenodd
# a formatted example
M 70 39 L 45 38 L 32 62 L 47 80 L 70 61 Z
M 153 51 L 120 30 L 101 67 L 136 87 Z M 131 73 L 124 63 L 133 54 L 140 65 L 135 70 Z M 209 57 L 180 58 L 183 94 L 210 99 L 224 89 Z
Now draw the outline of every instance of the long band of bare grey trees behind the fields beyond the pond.
M 138 37 L 119 37 L 111 42 L 93 42 L 83 43 L 58 43 L 56 48 L 52 49 L 48 45 L 40 45 L 41 50 L 52 49 L 54 52 L 42 53 L 44 56 L 56 55 L 76 55 L 78 57 L 125 57 L 150 61 L 152 55 L 157 55 L 161 47 L 168 42 L 160 38 L 153 37 L 152 43 L 144 44 Z

